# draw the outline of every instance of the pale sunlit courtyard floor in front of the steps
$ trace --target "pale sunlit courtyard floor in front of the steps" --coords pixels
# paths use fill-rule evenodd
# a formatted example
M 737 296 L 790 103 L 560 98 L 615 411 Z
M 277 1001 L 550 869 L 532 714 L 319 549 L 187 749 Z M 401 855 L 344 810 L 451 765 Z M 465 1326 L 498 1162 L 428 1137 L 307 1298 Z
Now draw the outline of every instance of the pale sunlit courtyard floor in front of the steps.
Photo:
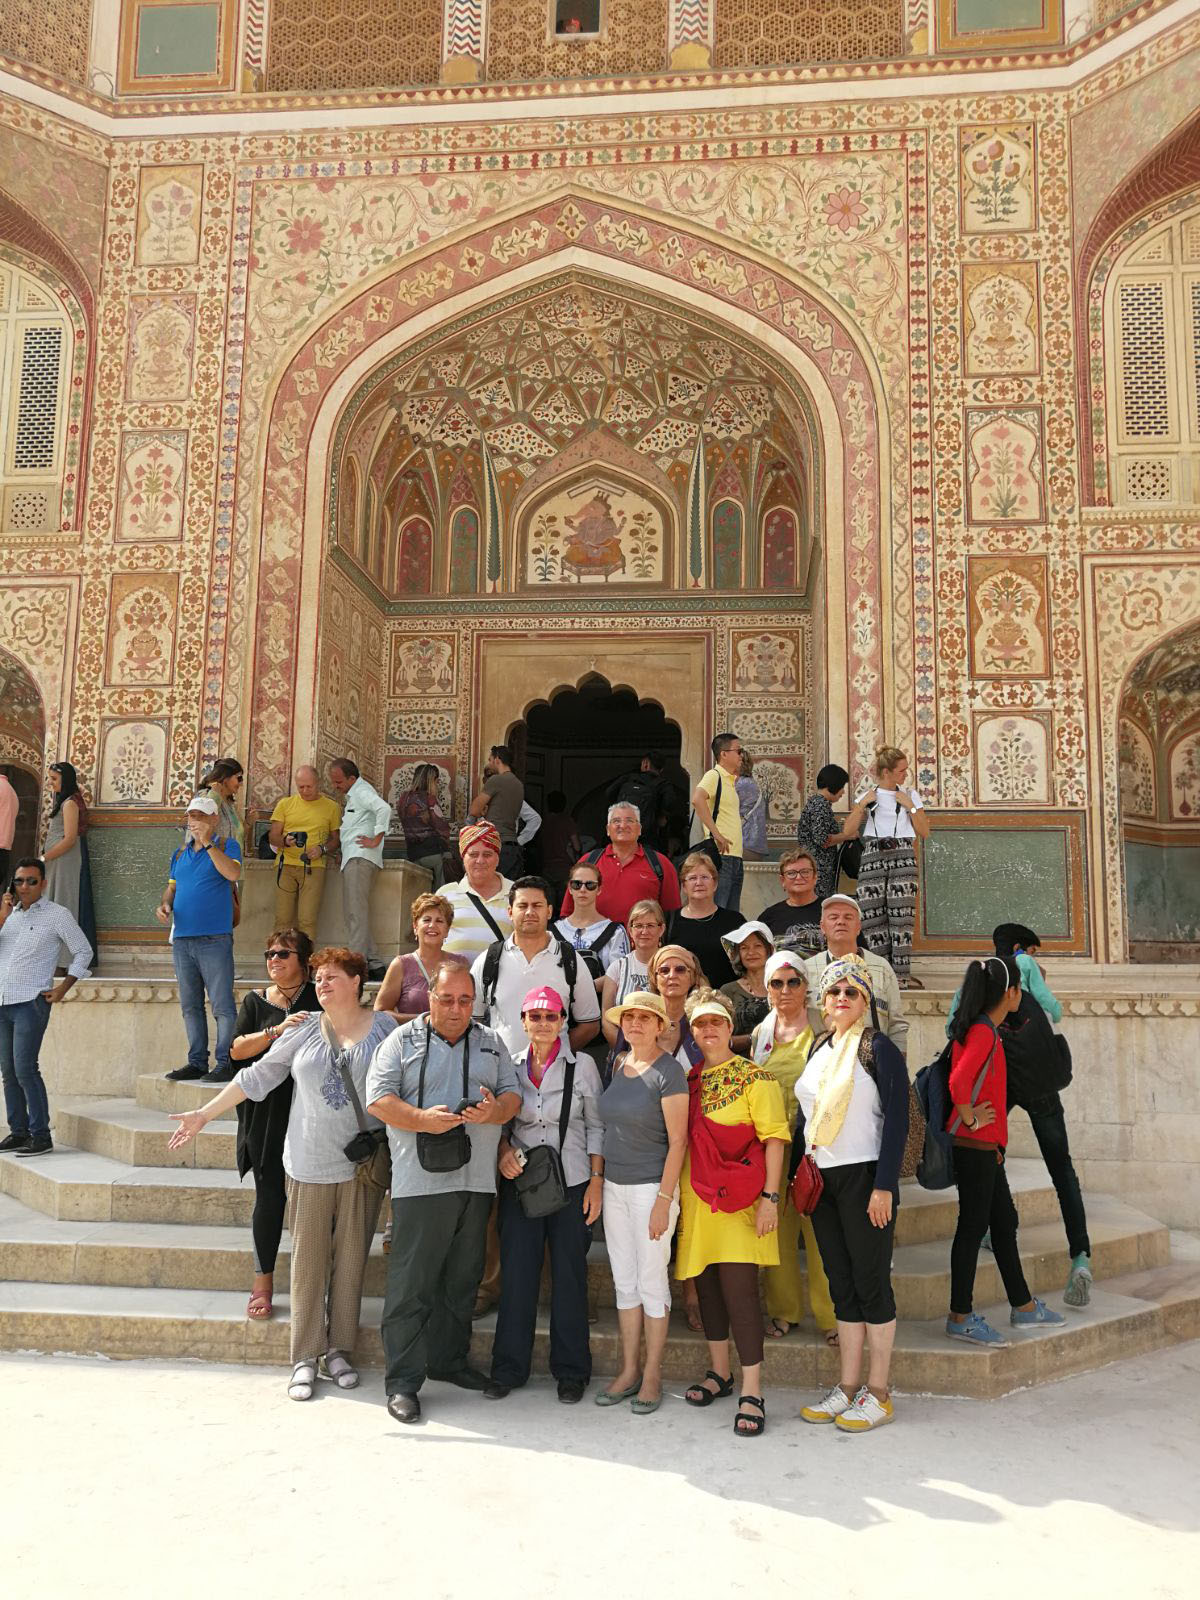
M 290 1403 L 250 1366 L 0 1357 L 6 1600 L 406 1594 L 1194 1597 L 1200 1344 L 1010 1395 L 902 1397 L 867 1438 L 768 1390 L 760 1440 L 680 1386 L 651 1418 L 379 1374 Z M 786 1587 L 784 1587 L 786 1586 Z

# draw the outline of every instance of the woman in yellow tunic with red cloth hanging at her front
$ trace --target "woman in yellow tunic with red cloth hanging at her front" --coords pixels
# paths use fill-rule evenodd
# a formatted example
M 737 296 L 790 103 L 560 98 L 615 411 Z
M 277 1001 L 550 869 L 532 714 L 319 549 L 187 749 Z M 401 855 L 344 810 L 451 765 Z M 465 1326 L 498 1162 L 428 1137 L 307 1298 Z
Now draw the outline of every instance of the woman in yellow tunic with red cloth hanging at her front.
M 733 1430 L 755 1438 L 766 1427 L 758 1267 L 779 1266 L 779 1182 L 792 1128 L 774 1077 L 733 1054 L 726 997 L 698 990 L 688 1002 L 688 1022 L 704 1059 L 688 1077 L 675 1275 L 696 1280 L 712 1365 L 683 1398 L 707 1406 L 733 1394 L 733 1331 L 742 1370 Z

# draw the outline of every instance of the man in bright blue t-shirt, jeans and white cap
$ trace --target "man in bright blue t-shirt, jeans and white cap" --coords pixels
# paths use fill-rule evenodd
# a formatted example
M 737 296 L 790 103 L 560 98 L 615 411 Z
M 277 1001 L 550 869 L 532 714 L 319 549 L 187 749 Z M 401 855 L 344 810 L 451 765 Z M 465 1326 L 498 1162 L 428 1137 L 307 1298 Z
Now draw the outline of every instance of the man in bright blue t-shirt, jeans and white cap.
M 171 955 L 179 982 L 179 1006 L 187 1029 L 187 1064 L 168 1072 L 174 1083 L 203 1078 L 229 1083 L 234 1062 L 237 1010 L 234 1006 L 234 885 L 242 877 L 242 850 L 219 832 L 211 795 L 187 802 L 187 842 L 171 856 L 166 891 L 155 917 L 174 920 Z M 216 1018 L 216 1069 L 208 1070 L 205 992 Z

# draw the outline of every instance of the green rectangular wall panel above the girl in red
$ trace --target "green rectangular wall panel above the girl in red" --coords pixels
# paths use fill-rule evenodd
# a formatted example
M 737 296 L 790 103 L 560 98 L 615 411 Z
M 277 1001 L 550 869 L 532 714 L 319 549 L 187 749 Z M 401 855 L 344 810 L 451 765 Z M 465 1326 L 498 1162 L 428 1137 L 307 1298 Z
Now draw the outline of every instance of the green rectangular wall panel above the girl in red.
M 1002 922 L 1022 922 L 1043 941 L 1069 939 L 1069 832 L 939 821 L 922 846 L 922 899 L 931 939 L 990 941 Z

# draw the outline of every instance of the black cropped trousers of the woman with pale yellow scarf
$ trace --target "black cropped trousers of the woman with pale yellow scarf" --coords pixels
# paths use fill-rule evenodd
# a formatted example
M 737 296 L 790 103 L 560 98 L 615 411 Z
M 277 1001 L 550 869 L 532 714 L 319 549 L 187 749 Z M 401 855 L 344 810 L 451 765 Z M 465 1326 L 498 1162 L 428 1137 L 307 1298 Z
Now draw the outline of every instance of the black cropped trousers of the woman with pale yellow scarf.
M 838 1322 L 896 1320 L 891 1293 L 891 1245 L 896 1235 L 896 1197 L 891 1221 L 875 1227 L 867 1200 L 875 1187 L 875 1162 L 822 1166 L 826 1187 L 813 1211 L 813 1234 L 829 1278 Z

